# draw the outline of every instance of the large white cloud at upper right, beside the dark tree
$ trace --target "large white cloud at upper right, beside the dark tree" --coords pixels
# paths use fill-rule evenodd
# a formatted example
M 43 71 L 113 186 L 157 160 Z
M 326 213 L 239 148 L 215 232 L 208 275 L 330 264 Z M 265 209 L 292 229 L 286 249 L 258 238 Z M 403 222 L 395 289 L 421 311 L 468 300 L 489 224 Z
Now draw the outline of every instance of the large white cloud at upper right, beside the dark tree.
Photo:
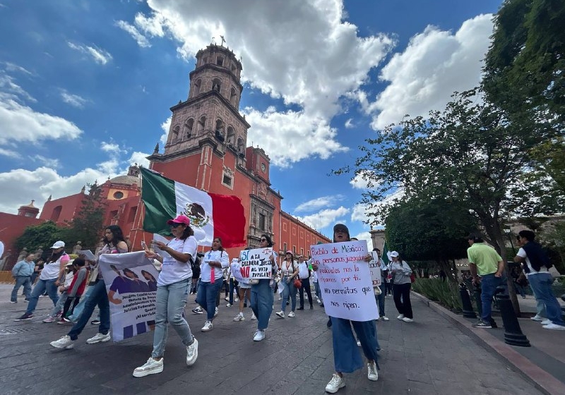
M 398 123 L 405 114 L 426 116 L 443 109 L 454 91 L 478 85 L 490 35 L 492 14 L 486 14 L 466 20 L 455 34 L 428 26 L 412 37 L 381 71 L 380 79 L 389 85 L 376 101 L 358 92 L 364 111 L 373 116 L 371 127 Z

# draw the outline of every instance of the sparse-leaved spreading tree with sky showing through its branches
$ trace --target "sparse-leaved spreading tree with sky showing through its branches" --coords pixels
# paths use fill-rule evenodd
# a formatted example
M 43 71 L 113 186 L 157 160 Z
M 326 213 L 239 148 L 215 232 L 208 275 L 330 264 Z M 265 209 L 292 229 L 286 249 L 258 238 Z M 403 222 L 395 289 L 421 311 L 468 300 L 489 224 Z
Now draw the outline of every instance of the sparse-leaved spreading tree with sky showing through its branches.
M 390 207 L 380 202 L 393 190 L 403 190 L 404 199 L 449 197 L 465 205 L 480 221 L 485 239 L 506 260 L 505 220 L 552 214 L 563 207 L 564 196 L 552 179 L 536 171 L 528 154 L 552 137 L 553 130 L 531 133 L 482 99 L 477 89 L 455 94 L 443 112 L 388 126 L 359 147 L 362 156 L 355 166 L 334 173 L 352 172 L 369 181 L 373 189 L 364 193 L 362 202 L 377 220 L 386 218 Z M 513 301 L 519 312 L 515 293 Z

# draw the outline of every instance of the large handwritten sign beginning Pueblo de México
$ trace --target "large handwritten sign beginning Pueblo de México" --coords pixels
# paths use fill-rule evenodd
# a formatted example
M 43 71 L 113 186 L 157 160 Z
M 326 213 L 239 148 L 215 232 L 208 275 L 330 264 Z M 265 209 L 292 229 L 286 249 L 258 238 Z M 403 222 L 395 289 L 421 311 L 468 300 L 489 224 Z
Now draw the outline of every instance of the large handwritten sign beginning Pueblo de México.
M 379 317 L 371 272 L 364 261 L 368 255 L 367 241 L 311 245 L 310 253 L 318 265 L 318 282 L 327 315 L 353 321 Z

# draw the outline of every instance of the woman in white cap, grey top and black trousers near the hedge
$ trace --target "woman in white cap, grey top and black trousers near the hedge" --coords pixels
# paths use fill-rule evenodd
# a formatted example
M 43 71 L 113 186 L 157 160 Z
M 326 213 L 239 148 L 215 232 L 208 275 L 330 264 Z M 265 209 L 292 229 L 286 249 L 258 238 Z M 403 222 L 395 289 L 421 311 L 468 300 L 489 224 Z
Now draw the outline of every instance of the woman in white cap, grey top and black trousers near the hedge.
M 407 262 L 400 258 L 400 254 L 396 251 L 391 253 L 390 273 L 393 276 L 393 299 L 396 310 L 398 310 L 398 320 L 404 322 L 414 321 L 412 315 L 412 303 L 410 302 L 410 288 L 412 288 L 412 269 Z

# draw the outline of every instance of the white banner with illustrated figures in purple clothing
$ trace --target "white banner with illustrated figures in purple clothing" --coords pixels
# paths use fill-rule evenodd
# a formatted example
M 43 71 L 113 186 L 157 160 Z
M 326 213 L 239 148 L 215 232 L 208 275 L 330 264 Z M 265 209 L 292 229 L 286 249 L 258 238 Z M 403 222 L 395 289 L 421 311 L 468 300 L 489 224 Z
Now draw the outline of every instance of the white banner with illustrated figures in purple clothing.
M 102 254 L 98 265 L 108 293 L 112 339 L 153 330 L 159 274 L 145 253 Z

